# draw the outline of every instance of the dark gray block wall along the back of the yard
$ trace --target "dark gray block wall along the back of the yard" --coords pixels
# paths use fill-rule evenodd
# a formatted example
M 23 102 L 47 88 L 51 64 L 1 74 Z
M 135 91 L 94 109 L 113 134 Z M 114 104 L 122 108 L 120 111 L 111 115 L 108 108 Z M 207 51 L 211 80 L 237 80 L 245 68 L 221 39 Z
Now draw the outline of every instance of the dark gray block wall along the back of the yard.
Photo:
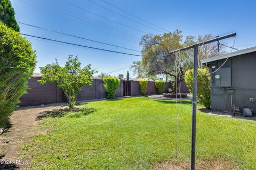
M 41 104 L 52 104 L 52 103 L 61 103 L 65 102 L 65 95 L 61 89 L 57 89 L 56 84 L 46 83 L 42 85 L 37 82 L 41 79 L 40 77 L 33 77 L 28 81 L 29 89 L 27 94 L 23 95 L 20 98 L 20 106 L 35 106 Z M 165 83 L 164 92 L 168 88 L 172 88 L 171 83 Z M 123 80 L 121 80 L 119 88 L 116 91 L 116 97 L 123 97 Z M 148 81 L 147 93 L 148 95 L 157 94 L 155 88 L 155 82 Z M 131 81 L 131 96 L 140 96 L 140 82 Z M 100 99 L 106 98 L 106 90 L 103 86 L 103 80 L 94 79 L 93 84 L 86 85 L 79 91 L 76 100 L 87 100 L 87 99 Z

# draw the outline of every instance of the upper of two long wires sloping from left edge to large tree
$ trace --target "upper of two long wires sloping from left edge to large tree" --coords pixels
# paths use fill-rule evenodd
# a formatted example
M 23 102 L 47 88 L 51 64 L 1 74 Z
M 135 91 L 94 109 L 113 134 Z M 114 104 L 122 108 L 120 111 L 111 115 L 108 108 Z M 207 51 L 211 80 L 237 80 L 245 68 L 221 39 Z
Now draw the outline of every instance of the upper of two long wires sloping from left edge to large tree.
M 28 25 L 30 27 L 34 27 L 34 28 L 38 28 L 38 29 L 43 29 L 43 30 L 46 30 L 46 31 L 51 31 L 51 32 L 55 32 L 55 33 L 60 33 L 62 35 L 66 35 L 66 36 L 70 36 L 70 37 L 75 37 L 75 38 L 79 38 L 79 39 L 84 39 L 84 40 L 88 40 L 88 41 L 92 41 L 92 42 L 95 42 L 95 43 L 100 43 L 100 44 L 105 44 L 105 45 L 108 45 L 108 46 L 113 46 L 113 47 L 118 47 L 118 48 L 124 48 L 124 49 L 128 49 L 128 50 L 133 50 L 134 52 L 140 52 L 139 50 L 135 50 L 135 49 L 131 49 L 131 48 L 126 48 L 126 47 L 121 47 L 121 46 L 117 46 L 117 45 L 113 45 L 113 44 L 108 44 L 108 43 L 103 43 L 103 42 L 100 42 L 100 41 L 96 41 L 96 40 L 92 40 L 92 39 L 87 39 L 87 38 L 84 38 L 84 37 L 78 37 L 78 36 L 74 36 L 74 35 L 70 35 L 68 33 L 64 33 L 64 32 L 59 32 L 59 31 L 54 31 L 54 30 L 50 30 L 50 29 L 47 29 L 47 28 L 43 28 L 43 27 L 38 27 L 36 25 L 31 25 L 31 24 L 27 24 L 27 23 L 23 23 L 23 22 L 18 22 L 20 24 L 23 24 L 23 25 Z

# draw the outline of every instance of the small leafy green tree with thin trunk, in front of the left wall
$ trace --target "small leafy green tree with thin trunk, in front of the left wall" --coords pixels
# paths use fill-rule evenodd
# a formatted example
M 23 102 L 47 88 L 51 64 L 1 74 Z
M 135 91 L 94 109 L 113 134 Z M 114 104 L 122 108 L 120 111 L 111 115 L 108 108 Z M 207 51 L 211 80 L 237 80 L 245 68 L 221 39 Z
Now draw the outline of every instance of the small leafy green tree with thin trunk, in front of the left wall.
M 57 87 L 64 91 L 67 98 L 69 109 L 73 108 L 76 103 L 76 96 L 78 91 L 86 84 L 93 83 L 92 75 L 95 70 L 91 69 L 91 64 L 81 69 L 81 63 L 78 61 L 77 56 L 73 58 L 69 55 L 68 61 L 64 67 L 61 67 L 56 60 L 56 63 L 47 64 L 42 68 L 44 74 L 41 84 L 57 83 Z

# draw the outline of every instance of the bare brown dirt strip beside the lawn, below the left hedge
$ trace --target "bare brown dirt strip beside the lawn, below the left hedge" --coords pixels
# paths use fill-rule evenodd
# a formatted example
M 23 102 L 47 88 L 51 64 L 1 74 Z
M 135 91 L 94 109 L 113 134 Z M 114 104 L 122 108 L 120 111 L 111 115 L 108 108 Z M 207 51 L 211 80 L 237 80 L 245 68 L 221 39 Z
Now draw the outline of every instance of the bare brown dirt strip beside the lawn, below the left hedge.
M 0 169 L 24 169 L 27 163 L 26 160 L 19 159 L 19 147 L 31 141 L 29 138 L 31 135 L 45 133 L 35 129 L 38 124 L 38 116 L 43 112 L 63 108 L 65 108 L 63 104 L 52 104 L 16 109 L 10 117 L 9 129 L 0 135 L 0 162 L 5 163 L 5 165 L 0 164 Z

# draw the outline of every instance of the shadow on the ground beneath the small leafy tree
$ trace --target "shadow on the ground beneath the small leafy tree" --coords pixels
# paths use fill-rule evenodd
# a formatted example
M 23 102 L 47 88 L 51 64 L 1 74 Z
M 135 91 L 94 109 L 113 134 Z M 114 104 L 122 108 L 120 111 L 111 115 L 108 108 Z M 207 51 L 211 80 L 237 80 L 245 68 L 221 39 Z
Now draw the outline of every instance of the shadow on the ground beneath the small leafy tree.
M 73 108 L 71 110 L 69 110 L 68 108 L 55 109 L 53 111 L 45 111 L 45 112 L 39 113 L 39 115 L 36 117 L 36 120 L 42 120 L 43 118 L 46 118 L 46 117 L 63 117 L 69 113 L 85 116 L 93 112 L 95 112 L 94 108 Z M 78 116 L 74 116 L 74 117 L 78 117 Z

